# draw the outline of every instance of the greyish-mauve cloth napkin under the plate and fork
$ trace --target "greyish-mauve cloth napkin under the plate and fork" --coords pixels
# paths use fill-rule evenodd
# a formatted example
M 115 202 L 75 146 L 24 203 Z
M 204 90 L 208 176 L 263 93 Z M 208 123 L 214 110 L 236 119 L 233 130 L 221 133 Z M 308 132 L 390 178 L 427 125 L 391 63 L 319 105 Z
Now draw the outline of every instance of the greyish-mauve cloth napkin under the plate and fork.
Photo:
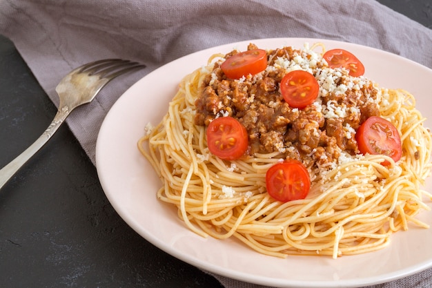
M 191 52 L 247 39 L 311 37 L 393 52 L 432 68 L 432 30 L 374 0 L 3 0 L 0 34 L 10 38 L 52 102 L 72 68 L 96 59 L 147 68 L 113 80 L 67 119 L 95 163 L 106 113 L 135 81 Z M 193 67 L 191 67 L 193 68 Z M 262 287 L 215 276 L 225 287 Z M 374 287 L 430 287 L 432 270 Z

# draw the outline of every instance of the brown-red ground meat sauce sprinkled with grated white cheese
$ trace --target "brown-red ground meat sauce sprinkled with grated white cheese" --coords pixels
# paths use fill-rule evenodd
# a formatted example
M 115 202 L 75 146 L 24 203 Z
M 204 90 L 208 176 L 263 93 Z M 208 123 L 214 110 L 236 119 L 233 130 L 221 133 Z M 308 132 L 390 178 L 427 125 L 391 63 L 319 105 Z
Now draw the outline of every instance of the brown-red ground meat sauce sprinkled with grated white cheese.
M 248 50 L 257 49 L 250 44 Z M 225 59 L 239 51 L 233 50 Z M 248 131 L 248 153 L 282 153 L 306 166 L 338 163 L 342 151 L 359 153 L 355 130 L 367 118 L 380 115 L 380 91 L 364 77 L 331 69 L 309 50 L 284 47 L 267 51 L 268 66 L 257 75 L 227 79 L 215 62 L 196 99 L 195 124 L 207 126 L 216 117 L 231 116 Z M 303 109 L 291 108 L 279 83 L 291 70 L 306 70 L 320 84 L 317 100 Z

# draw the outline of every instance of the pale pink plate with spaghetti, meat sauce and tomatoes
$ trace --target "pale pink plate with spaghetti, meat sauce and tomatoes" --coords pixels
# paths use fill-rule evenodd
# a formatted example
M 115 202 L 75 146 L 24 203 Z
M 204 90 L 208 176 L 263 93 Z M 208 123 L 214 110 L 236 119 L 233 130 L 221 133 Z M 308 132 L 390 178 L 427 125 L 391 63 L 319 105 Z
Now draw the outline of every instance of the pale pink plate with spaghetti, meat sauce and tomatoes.
M 112 106 L 99 179 L 132 229 L 206 271 L 274 287 L 409 276 L 432 266 L 428 79 L 324 39 L 195 52 Z

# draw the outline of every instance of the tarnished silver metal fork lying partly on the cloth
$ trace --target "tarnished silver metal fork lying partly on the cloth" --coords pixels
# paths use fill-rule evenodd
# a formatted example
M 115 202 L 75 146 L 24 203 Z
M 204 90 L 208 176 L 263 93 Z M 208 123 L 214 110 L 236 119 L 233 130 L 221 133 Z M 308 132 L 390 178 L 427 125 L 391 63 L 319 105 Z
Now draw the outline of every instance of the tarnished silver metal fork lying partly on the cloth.
M 46 131 L 23 153 L 0 170 L 0 189 L 57 131 L 72 110 L 87 104 L 109 81 L 125 73 L 145 68 L 143 64 L 123 59 L 94 61 L 72 70 L 55 88 L 60 104 Z

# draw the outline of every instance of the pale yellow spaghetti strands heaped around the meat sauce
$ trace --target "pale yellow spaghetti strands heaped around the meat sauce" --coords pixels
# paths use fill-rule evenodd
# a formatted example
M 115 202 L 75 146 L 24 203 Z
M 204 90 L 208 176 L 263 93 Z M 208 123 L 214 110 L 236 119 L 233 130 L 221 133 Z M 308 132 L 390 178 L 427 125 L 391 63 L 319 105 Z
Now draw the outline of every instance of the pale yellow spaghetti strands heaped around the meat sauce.
M 306 47 L 298 55 L 306 55 L 304 59 L 311 62 L 308 55 L 313 52 Z M 138 143 L 161 179 L 157 197 L 174 204 L 190 230 L 203 237 L 235 237 L 270 256 L 337 258 L 382 249 L 392 233 L 408 229 L 410 222 L 429 228 L 415 216 L 429 210 L 422 198 L 432 197 L 421 189 L 431 171 L 432 138 L 422 124 L 424 117 L 415 109 L 413 95 L 375 87 L 374 101 L 381 117 L 400 133 L 400 161 L 341 151 L 339 157 L 320 162 L 325 157 L 317 158 L 312 151 L 304 160 L 311 191 L 303 200 L 282 203 L 266 193 L 265 177 L 270 166 L 290 156 L 289 149 L 221 160 L 208 151 L 206 126 L 195 124 L 197 97 L 209 77 L 214 78 L 215 63 L 224 57 L 213 55 L 208 66 L 184 77 L 164 119 L 147 127 L 148 134 Z M 300 62 L 295 65 L 302 66 Z M 317 75 L 317 70 L 313 72 Z M 320 89 L 322 99 L 326 91 Z M 329 109 L 322 102 L 315 106 Z M 383 161 L 390 165 L 383 166 Z

